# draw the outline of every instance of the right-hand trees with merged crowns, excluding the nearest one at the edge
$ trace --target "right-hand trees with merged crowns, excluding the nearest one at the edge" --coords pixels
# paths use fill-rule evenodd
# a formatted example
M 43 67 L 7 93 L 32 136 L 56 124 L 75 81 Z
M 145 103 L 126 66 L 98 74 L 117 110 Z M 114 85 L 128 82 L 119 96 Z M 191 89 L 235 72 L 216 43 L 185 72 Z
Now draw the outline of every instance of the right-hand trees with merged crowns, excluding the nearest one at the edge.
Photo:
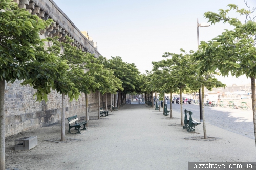
M 181 52 L 181 54 L 166 52 L 163 55 L 163 57 L 166 58 L 165 60 L 152 62 L 153 69 L 151 72 L 147 72 L 145 85 L 142 87 L 145 93 L 151 93 L 152 97 L 153 91 L 158 92 L 162 98 L 164 98 L 165 93 L 170 93 L 172 99 L 172 94 L 179 92 L 182 101 L 182 94 L 184 92 L 196 92 L 199 88 L 202 88 L 202 97 L 204 97 L 204 87 L 209 90 L 212 90 L 214 87 L 225 87 L 225 84 L 222 84 L 214 77 L 215 72 L 199 74 L 197 69 L 198 62 L 193 61 L 195 52 L 190 51 L 186 53 L 182 49 Z M 202 101 L 204 101 L 204 99 L 202 99 Z M 183 104 L 181 102 L 181 126 L 184 126 L 182 107 Z M 170 110 L 170 118 L 172 118 L 172 103 L 170 103 Z M 202 114 L 204 138 L 206 139 L 204 109 Z

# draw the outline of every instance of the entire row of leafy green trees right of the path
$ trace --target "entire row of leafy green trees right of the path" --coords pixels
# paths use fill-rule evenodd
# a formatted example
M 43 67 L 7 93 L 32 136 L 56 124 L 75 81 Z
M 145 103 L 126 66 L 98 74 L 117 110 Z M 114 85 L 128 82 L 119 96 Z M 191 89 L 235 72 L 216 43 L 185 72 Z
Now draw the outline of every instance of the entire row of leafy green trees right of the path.
M 211 22 L 211 25 L 222 21 L 229 23 L 234 29 L 225 30 L 221 35 L 208 42 L 202 41 L 199 50 L 196 52 L 186 53 L 181 50 L 181 54 L 164 53 L 163 57 L 166 57 L 166 60 L 152 62 L 152 71 L 148 71 L 144 77 L 143 92 L 156 91 L 163 96 L 166 92 L 172 94 L 179 91 L 182 99 L 184 89 L 193 92 L 201 87 L 203 98 L 204 87 L 211 90 L 213 87 L 225 86 L 214 78 L 217 72 L 222 76 L 228 76 L 229 74 L 236 77 L 246 75 L 247 78 L 251 79 L 253 122 L 256 137 L 256 22 L 254 21 L 255 17 L 251 16 L 255 8 L 250 9 L 247 1 L 245 1 L 245 4 L 249 10 L 239 9 L 238 6 L 229 4 L 229 9 L 220 9 L 219 13 L 204 13 L 205 18 L 208 19 L 208 22 Z M 230 10 L 244 15 L 245 21 L 241 22 L 237 18 L 227 16 Z M 182 110 L 181 102 L 181 125 L 184 124 Z M 172 117 L 172 111 L 170 115 Z M 206 138 L 204 112 L 203 126 L 204 138 Z

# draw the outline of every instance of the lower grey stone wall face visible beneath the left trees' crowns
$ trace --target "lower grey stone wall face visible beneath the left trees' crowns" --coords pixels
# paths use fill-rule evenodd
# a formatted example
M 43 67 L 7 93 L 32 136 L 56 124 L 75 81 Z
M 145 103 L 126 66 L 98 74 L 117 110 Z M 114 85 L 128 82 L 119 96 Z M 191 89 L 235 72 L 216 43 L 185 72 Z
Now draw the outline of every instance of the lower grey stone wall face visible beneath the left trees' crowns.
M 53 91 L 48 102 L 36 102 L 35 90 L 29 85 L 21 86 L 20 81 L 7 83 L 5 87 L 6 136 L 25 130 L 53 124 L 61 119 L 61 95 Z M 111 96 L 108 94 L 108 105 Z M 114 94 L 112 94 L 114 103 Z M 88 111 L 98 109 L 98 92 L 88 95 Z M 100 106 L 105 107 L 105 94 L 100 94 Z M 82 93 L 77 101 L 65 97 L 65 117 L 85 114 L 85 97 Z M 89 117 L 90 119 L 90 117 Z M 67 123 L 67 122 L 66 122 Z

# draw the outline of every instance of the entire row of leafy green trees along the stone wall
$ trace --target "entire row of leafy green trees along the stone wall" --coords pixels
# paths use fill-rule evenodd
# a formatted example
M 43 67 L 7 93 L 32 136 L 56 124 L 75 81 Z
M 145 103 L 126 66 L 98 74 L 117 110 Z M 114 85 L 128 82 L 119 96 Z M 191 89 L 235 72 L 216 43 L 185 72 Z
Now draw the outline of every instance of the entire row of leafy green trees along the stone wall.
M 138 69 L 123 62 L 121 57 L 97 59 L 72 46 L 68 36 L 62 42 L 59 37 L 40 39 L 40 30 L 52 22 L 19 9 L 12 0 L 0 2 L 0 169 L 5 169 L 5 82 L 22 80 L 22 85 L 29 84 L 36 89 L 37 101 L 47 101 L 52 90 L 62 94 L 62 141 L 65 140 L 65 96 L 72 101 L 85 94 L 87 119 L 87 96 L 91 92 L 103 95 L 119 91 L 120 96 L 122 91 L 125 96 L 139 90 Z M 119 97 L 118 101 L 119 105 L 123 100 Z

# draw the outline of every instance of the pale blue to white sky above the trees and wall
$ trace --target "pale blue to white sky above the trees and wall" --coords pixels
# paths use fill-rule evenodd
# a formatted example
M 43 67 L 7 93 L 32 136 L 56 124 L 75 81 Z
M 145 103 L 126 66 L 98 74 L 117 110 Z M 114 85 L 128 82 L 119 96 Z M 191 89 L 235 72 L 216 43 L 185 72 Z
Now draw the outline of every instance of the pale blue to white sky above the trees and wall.
M 207 22 L 204 12 L 218 12 L 221 8 L 227 9 L 228 4 L 246 8 L 243 0 L 54 2 L 78 29 L 88 31 L 101 55 L 121 56 L 123 61 L 135 63 L 142 73 L 152 69 L 152 61 L 162 60 L 164 52 L 179 53 L 180 48 L 197 50 L 196 19 L 199 18 L 199 23 Z M 256 7 L 255 0 L 248 0 L 248 3 Z M 230 16 L 239 17 L 234 13 Z M 222 23 L 200 28 L 200 41 L 208 41 L 226 28 L 231 29 Z M 226 81 L 230 83 L 223 80 Z

